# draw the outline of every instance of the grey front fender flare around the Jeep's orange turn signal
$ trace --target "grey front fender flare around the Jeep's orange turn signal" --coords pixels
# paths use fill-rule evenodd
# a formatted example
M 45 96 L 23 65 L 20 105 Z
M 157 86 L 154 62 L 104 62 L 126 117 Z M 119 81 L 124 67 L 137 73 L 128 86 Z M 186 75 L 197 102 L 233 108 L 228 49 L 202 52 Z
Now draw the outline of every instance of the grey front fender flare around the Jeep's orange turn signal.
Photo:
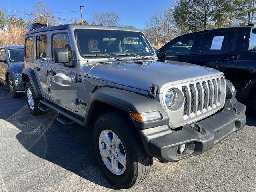
M 124 110 L 128 113 L 134 125 L 140 129 L 162 126 L 169 123 L 169 118 L 166 112 L 164 111 L 160 103 L 155 99 L 148 98 L 147 96 L 142 96 L 140 94 L 136 94 L 134 92 L 126 90 L 102 87 L 96 90 L 90 97 L 86 110 L 86 125 L 88 125 L 89 123 L 94 103 L 97 101 L 105 102 L 107 104 L 120 108 L 121 110 Z M 159 120 L 140 122 L 138 120 L 134 120 L 130 115 L 130 112 L 145 113 L 153 111 L 159 111 L 162 118 Z

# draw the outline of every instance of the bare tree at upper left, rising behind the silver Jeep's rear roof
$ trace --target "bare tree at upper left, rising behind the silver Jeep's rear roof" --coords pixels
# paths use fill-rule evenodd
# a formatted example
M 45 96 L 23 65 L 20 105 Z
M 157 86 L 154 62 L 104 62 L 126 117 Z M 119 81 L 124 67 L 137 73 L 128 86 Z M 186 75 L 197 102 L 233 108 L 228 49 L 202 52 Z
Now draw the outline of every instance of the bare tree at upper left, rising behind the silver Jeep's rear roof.
M 48 23 L 49 26 L 58 25 L 56 18 L 53 18 L 53 11 L 47 4 L 43 3 L 42 0 L 36 0 L 32 14 L 34 14 L 33 22 L 42 24 Z

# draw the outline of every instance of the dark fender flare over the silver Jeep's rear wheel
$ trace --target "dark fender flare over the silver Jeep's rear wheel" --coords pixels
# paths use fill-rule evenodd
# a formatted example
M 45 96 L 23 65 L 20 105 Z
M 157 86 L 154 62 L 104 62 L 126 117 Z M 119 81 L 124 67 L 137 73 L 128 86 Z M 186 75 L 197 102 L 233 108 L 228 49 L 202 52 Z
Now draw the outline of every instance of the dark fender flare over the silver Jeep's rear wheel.
M 32 84 L 32 87 L 34 89 L 34 92 L 36 94 L 36 97 L 42 97 L 42 93 L 41 93 L 41 90 L 39 88 L 39 85 L 38 85 L 38 82 L 37 82 L 37 79 L 36 79 L 36 74 L 34 72 L 34 70 L 30 69 L 30 68 L 25 68 L 22 70 L 22 82 L 24 84 L 24 89 L 25 89 L 25 82 L 26 82 L 26 79 L 25 79 L 25 75 L 28 76 L 31 84 Z

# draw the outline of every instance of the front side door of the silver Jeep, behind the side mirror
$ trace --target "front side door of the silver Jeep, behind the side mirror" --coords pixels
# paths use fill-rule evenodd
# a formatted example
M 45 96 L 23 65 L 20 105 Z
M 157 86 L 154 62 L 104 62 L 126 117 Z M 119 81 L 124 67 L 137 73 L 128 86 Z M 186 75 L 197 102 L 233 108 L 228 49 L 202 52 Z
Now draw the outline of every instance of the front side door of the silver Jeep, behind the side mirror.
M 65 108 L 78 111 L 76 76 L 77 67 L 65 67 L 63 63 L 56 63 L 52 56 L 54 48 L 67 48 L 69 62 L 74 63 L 68 31 L 51 32 L 51 52 L 48 75 L 50 80 L 51 99 Z

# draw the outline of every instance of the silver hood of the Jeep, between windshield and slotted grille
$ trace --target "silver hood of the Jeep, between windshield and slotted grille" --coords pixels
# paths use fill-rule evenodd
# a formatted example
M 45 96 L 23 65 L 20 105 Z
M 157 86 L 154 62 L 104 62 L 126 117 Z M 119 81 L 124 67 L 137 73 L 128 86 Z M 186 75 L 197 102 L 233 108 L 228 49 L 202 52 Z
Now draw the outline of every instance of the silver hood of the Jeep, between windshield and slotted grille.
M 162 94 L 166 86 L 221 74 L 212 68 L 184 62 L 146 60 L 139 64 L 126 60 L 96 64 L 90 69 L 89 77 L 145 91 L 156 84 L 158 93 Z

